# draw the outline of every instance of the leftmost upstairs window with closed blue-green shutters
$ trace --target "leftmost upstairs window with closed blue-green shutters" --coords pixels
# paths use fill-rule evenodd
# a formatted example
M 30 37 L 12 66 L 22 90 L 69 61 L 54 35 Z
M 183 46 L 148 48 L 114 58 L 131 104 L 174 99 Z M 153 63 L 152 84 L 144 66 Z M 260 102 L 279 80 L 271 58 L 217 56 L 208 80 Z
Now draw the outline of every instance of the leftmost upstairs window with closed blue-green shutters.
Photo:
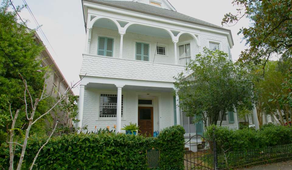
M 107 37 L 98 37 L 98 50 L 99 56 L 113 56 L 113 39 Z

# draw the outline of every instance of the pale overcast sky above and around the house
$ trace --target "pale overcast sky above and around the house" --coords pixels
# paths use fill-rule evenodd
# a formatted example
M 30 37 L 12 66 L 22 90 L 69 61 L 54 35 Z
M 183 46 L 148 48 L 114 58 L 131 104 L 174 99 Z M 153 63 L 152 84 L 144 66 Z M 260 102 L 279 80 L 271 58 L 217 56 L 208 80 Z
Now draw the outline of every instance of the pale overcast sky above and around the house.
M 225 13 L 236 12 L 232 6 L 233 0 L 169 0 L 177 12 L 201 19 L 221 26 Z M 52 45 L 46 42 L 40 31 L 40 35 L 57 66 L 65 79 L 70 82 L 79 80 L 79 72 L 82 64 L 82 53 L 85 45 L 85 28 L 82 14 L 81 0 L 26 0 L 33 15 Z M 22 5 L 23 0 L 13 0 L 14 5 Z M 23 9 L 20 16 L 29 19 L 28 26 L 36 28 L 33 18 L 27 9 Z M 247 19 L 241 20 L 231 29 L 234 39 L 234 47 L 231 49 L 233 61 L 238 59 L 240 52 L 246 48 L 241 43 L 241 37 L 237 32 L 241 27 L 248 27 Z M 54 52 L 55 51 L 55 52 Z M 79 89 L 73 90 L 76 95 Z

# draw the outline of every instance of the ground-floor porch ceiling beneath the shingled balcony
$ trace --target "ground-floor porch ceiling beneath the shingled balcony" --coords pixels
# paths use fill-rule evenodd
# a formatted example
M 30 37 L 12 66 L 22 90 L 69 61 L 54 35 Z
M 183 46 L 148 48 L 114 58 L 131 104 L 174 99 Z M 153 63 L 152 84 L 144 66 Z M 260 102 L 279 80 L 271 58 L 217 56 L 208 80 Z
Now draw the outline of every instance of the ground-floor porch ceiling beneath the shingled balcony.
M 86 85 L 87 88 L 96 88 L 103 90 L 117 90 L 116 85 L 114 84 L 104 84 L 104 83 L 88 83 Z M 131 86 L 125 85 L 122 90 L 135 90 L 142 92 L 172 92 L 173 88 L 166 87 L 147 87 L 147 86 Z

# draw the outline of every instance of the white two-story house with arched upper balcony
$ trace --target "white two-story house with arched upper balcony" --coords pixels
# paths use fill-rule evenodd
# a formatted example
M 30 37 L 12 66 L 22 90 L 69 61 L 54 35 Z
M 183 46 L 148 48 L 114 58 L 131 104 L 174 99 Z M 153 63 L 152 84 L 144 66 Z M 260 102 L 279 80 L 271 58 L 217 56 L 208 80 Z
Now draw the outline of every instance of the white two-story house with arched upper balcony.
M 152 135 L 180 124 L 187 133 L 202 133 L 202 124 L 180 110 L 173 77 L 203 47 L 230 54 L 231 31 L 176 12 L 167 0 L 82 0 L 82 7 L 86 39 L 77 126 L 94 131 L 116 125 L 120 132 L 132 122 Z M 237 120 L 232 112 L 223 125 L 238 128 Z

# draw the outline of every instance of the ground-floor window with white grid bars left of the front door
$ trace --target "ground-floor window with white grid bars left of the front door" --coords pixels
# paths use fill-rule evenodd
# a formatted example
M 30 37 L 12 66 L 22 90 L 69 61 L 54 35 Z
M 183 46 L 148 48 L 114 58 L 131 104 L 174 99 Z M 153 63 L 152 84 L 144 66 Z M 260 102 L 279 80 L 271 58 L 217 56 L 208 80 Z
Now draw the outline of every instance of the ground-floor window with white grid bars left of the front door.
M 100 94 L 99 97 L 99 117 L 115 118 L 117 108 L 116 94 Z M 122 117 L 123 117 L 123 95 L 122 95 Z

